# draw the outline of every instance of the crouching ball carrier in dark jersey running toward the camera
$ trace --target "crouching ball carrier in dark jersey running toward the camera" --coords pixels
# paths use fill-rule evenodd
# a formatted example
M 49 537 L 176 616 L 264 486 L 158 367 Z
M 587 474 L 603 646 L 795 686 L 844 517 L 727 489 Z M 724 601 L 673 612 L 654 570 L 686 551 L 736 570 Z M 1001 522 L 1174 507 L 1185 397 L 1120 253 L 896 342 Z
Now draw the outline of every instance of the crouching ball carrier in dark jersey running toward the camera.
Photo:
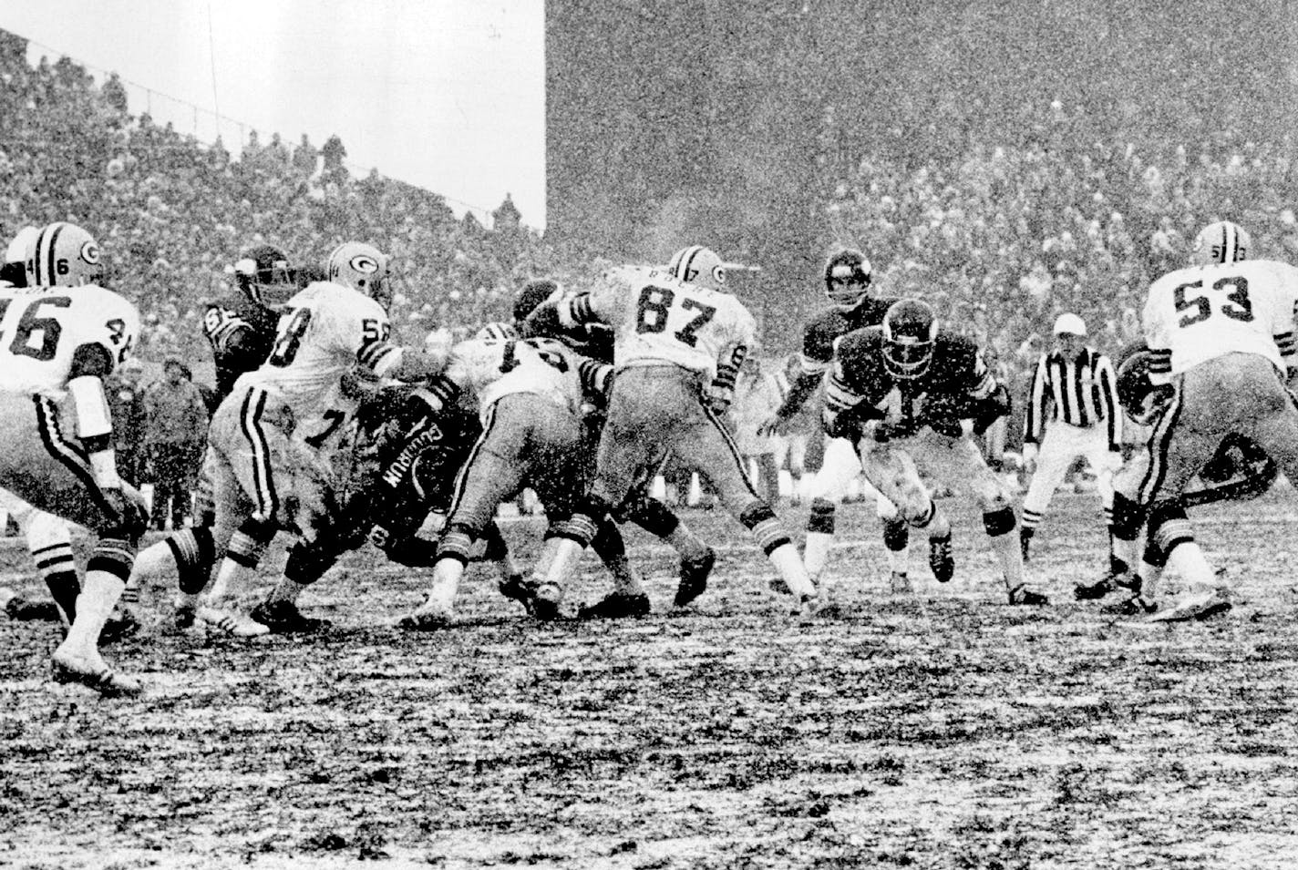
M 1001 563 L 1011 604 L 1046 604 L 1023 578 L 1012 497 L 970 437 L 1009 414 L 974 342 L 942 331 L 928 303 L 894 302 L 883 325 L 835 344 L 824 398 L 824 429 L 849 438 L 866 477 L 901 517 L 928 533 L 928 561 L 938 582 L 955 573 L 951 528 L 919 478 L 963 478 L 983 510 L 983 525 Z

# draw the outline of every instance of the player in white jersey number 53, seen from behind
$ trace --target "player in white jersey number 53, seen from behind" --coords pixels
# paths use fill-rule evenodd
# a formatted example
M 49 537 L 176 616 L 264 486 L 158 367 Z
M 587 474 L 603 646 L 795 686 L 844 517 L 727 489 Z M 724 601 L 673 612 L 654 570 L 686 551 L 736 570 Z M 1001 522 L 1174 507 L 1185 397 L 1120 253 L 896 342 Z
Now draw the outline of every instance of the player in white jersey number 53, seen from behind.
M 1228 590 L 1194 541 L 1181 495 L 1229 434 L 1243 434 L 1298 475 L 1298 406 L 1285 386 L 1294 359 L 1298 268 L 1250 261 L 1249 233 L 1216 220 L 1194 240 L 1192 265 L 1154 281 L 1142 312 L 1153 414 L 1145 462 L 1115 478 L 1114 534 L 1134 555 L 1146 526 L 1133 612 L 1155 621 L 1207 618 L 1231 608 Z M 1159 564 L 1159 563 L 1163 564 Z M 1172 565 L 1190 589 L 1159 611 L 1157 583 Z M 1158 611 L 1158 612 L 1155 612 Z

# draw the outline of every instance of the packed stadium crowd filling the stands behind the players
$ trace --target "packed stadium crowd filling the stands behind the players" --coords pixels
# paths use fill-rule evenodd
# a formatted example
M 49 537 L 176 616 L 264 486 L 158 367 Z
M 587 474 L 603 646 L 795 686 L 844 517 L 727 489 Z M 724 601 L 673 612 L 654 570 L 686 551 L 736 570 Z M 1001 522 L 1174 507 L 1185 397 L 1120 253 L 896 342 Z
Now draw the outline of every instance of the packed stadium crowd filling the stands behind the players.
M 106 284 L 144 316 L 136 350 L 153 368 L 167 359 L 206 367 L 202 342 L 193 341 L 204 301 L 228 289 L 230 263 L 257 242 L 318 263 L 339 241 L 371 240 L 392 255 L 392 322 L 411 338 L 508 319 L 524 281 L 580 285 L 597 271 L 592 262 L 605 262 L 602 252 L 549 244 L 509 200 L 488 228 L 376 170 L 357 178 L 336 136 L 317 147 L 302 135 L 289 147 L 279 134 L 261 141 L 253 131 L 238 154 L 219 139 L 201 143 L 132 114 L 116 76 L 96 83 L 66 57 L 32 65 L 26 40 L 3 31 L 0 80 L 0 231 L 12 237 L 53 218 L 93 227 Z M 823 237 L 866 250 L 877 293 L 922 296 L 975 338 L 1018 407 L 1057 316 L 1093 312 L 1090 342 L 1116 351 L 1138 335 L 1145 288 L 1184 262 L 1206 219 L 1237 217 L 1258 255 L 1298 253 L 1289 136 L 1246 139 L 1243 124 L 1198 141 L 1186 135 L 1193 127 L 1114 131 L 1058 100 L 1024 104 L 1014 123 L 954 148 L 875 143 L 858 153 L 835 144 L 835 123 L 831 112 L 820 161 L 832 191 Z M 998 140 L 1001 130 L 1016 132 Z M 909 134 L 897 126 L 887 135 L 900 143 Z M 818 284 L 807 276 L 809 293 Z M 787 341 L 767 338 L 772 347 Z M 761 389 L 750 394 L 771 403 L 783 360 L 763 362 Z M 748 432 L 759 416 L 736 415 L 754 456 L 772 450 Z M 1020 428 L 1016 414 L 1011 446 Z M 145 468 L 152 464 L 141 463 L 140 473 Z

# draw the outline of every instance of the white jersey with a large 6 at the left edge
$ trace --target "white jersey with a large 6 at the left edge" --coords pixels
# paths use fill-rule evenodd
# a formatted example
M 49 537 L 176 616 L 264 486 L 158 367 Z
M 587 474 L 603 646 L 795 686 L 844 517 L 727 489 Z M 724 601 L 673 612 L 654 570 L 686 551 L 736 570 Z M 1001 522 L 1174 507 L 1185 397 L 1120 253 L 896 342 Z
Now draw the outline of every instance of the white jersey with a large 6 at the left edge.
M 0 288 L 0 390 L 62 399 L 78 347 L 104 347 L 116 368 L 139 335 L 135 306 L 103 287 Z

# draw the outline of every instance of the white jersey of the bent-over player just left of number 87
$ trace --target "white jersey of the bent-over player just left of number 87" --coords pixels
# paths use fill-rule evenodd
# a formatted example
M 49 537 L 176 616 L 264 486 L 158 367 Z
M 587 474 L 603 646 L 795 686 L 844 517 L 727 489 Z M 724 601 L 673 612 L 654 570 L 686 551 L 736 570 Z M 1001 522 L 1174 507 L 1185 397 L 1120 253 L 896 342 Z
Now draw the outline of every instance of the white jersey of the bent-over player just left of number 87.
M 531 393 L 576 411 L 582 405 L 578 357 L 552 338 L 470 338 L 450 351 L 447 377 L 471 392 L 484 417 L 506 395 Z

